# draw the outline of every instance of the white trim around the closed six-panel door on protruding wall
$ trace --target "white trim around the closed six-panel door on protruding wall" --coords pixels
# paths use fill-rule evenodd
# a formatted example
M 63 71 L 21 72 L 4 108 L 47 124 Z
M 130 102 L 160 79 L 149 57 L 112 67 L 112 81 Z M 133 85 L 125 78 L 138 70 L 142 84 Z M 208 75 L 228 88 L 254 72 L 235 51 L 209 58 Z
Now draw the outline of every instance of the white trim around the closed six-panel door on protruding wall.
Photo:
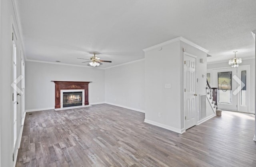
M 184 122 L 184 132 L 186 131 L 186 126 L 185 126 L 185 109 L 184 109 L 184 106 L 185 106 L 185 102 L 186 102 L 186 99 L 185 99 L 185 92 L 184 92 L 184 89 L 185 89 L 185 64 L 184 64 L 184 61 L 185 61 L 185 56 L 190 56 L 192 58 L 195 58 L 197 60 L 197 56 L 194 56 L 192 54 L 189 54 L 188 52 L 183 52 L 183 61 L 182 61 L 182 64 L 183 64 L 183 122 Z M 195 62 L 196 63 L 196 62 Z M 197 63 L 196 63 L 196 71 L 197 71 Z M 196 75 L 196 71 L 195 71 L 195 75 Z M 195 80 L 195 93 L 197 92 L 196 91 L 196 87 L 197 87 L 197 82 Z M 196 124 L 197 125 L 197 120 L 198 120 L 198 115 L 196 114 L 196 104 L 197 104 L 197 100 L 195 98 L 195 118 L 196 118 Z

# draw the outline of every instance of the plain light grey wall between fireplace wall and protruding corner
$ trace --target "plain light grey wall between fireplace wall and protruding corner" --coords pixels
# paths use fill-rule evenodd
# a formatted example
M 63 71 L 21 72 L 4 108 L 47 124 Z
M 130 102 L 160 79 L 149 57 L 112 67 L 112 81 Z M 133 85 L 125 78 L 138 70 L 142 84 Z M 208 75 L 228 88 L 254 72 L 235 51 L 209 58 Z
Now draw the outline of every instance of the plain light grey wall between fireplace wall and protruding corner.
M 144 60 L 105 70 L 106 103 L 144 112 Z

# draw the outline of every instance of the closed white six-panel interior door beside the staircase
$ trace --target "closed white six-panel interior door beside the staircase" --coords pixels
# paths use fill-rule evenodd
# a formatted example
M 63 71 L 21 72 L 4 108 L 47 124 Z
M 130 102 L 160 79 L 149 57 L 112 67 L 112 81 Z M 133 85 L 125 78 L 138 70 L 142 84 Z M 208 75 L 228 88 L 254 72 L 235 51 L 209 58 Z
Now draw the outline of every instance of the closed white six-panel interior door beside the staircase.
M 184 52 L 185 129 L 196 125 L 196 56 Z

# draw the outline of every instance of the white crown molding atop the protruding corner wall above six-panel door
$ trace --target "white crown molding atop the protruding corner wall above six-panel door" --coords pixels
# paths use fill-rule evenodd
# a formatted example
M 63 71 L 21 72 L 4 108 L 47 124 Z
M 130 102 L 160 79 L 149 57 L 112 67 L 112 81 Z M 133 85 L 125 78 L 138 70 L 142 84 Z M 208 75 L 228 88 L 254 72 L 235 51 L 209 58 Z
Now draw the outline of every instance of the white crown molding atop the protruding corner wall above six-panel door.
M 163 42 L 163 43 L 161 43 L 161 44 L 157 44 L 157 45 L 151 46 L 151 47 L 149 47 L 149 48 L 143 49 L 143 51 L 144 51 L 144 52 L 147 52 L 147 51 L 149 51 L 149 50 L 153 50 L 153 49 L 155 49 L 155 48 L 159 48 L 159 47 L 162 47 L 162 46 L 164 46 L 164 45 L 171 44 L 171 43 L 177 42 L 177 41 L 185 42 L 186 44 L 188 44 L 188 45 L 190 45 L 190 46 L 193 46 L 194 48 L 197 48 L 197 49 L 199 49 L 199 50 L 201 50 L 201 51 L 203 51 L 203 52 L 205 52 L 205 53 L 208 53 L 208 52 L 209 52 L 208 50 L 202 48 L 201 46 L 195 44 L 194 42 L 191 42 L 190 40 L 187 40 L 186 38 L 183 38 L 182 36 L 177 37 L 177 38 L 174 38 L 174 39 L 169 40 L 169 41 L 166 41 L 166 42 Z

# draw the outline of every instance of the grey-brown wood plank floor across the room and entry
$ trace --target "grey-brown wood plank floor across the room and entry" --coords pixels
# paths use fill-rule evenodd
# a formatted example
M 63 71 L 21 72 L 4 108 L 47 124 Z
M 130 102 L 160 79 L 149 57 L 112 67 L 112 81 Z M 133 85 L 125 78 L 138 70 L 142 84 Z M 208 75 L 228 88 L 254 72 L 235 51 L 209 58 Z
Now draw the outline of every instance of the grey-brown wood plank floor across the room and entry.
M 27 113 L 16 167 L 256 167 L 254 115 L 223 111 L 178 134 L 108 104 Z

